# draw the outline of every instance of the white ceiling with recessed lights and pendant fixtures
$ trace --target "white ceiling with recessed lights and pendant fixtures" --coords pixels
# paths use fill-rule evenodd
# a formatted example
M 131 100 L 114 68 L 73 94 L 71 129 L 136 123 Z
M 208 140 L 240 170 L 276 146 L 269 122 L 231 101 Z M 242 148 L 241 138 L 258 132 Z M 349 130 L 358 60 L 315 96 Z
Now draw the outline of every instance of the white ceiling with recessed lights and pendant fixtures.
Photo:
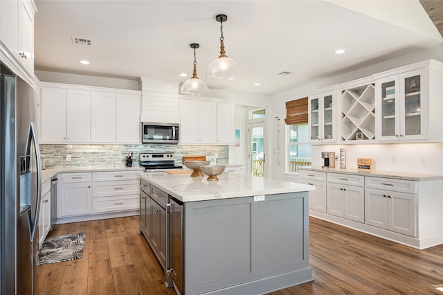
M 180 73 L 192 75 L 189 45 L 198 43 L 200 79 L 210 88 L 251 93 L 276 93 L 443 44 L 418 0 L 35 3 L 36 70 L 183 82 Z M 217 14 L 228 16 L 226 55 L 243 73 L 232 82 L 205 78 L 219 55 Z M 92 45 L 73 44 L 72 37 Z M 335 55 L 338 48 L 346 53 Z

